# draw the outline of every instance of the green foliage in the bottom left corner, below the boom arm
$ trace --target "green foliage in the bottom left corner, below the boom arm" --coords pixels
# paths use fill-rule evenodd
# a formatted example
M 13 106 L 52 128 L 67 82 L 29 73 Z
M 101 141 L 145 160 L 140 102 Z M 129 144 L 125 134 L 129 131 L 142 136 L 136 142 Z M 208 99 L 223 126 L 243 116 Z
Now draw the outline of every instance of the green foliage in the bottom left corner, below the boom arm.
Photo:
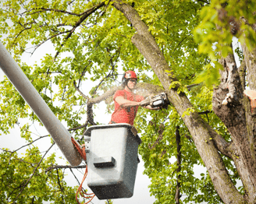
M 41 160 L 41 153 L 35 146 L 27 149 L 23 157 L 17 153 L 3 151 L 0 153 L 0 198 L 2 203 L 76 203 L 75 188 L 70 188 L 63 180 L 64 173 L 59 170 L 45 172 L 55 164 L 55 154 L 43 160 L 37 171 L 34 171 Z M 16 199 L 27 180 L 34 174 L 23 190 L 22 196 Z

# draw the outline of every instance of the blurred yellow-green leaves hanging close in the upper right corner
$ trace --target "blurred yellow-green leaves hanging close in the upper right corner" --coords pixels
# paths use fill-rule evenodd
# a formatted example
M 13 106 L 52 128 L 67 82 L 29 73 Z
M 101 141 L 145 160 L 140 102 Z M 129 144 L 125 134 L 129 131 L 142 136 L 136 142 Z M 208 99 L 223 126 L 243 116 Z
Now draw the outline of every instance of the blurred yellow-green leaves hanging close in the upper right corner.
M 208 87 L 218 84 L 218 59 L 233 53 L 230 44 L 237 37 L 241 44 L 246 44 L 252 51 L 256 46 L 256 33 L 251 28 L 255 23 L 253 1 L 213 0 L 200 12 L 201 23 L 194 29 L 194 39 L 199 44 L 198 52 L 207 54 L 211 63 L 204 68 L 197 81 L 207 79 Z M 243 19 L 241 20 L 241 16 Z

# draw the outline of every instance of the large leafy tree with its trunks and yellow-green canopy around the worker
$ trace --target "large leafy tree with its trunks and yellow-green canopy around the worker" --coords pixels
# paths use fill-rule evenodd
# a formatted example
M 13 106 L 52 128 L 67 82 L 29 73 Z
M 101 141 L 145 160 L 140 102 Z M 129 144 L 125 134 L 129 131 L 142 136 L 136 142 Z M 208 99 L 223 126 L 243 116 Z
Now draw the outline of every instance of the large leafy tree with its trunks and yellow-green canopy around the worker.
M 33 55 L 47 41 L 55 47 L 55 55 L 44 56 L 41 65 L 20 66 L 76 139 L 82 141 L 87 126 L 97 125 L 94 104 L 108 103 L 120 88 L 109 89 L 118 74 L 117 63 L 140 73 L 139 92 L 167 93 L 168 110 L 140 109 L 136 118 L 155 203 L 256 202 L 254 101 L 244 95 L 246 87 L 256 86 L 253 1 L 2 4 L 0 33 L 8 36 L 5 46 L 17 62 L 24 51 Z M 242 45 L 236 49 L 241 65 L 234 58 L 233 37 Z M 148 77 L 148 72 L 154 75 Z M 80 90 L 87 80 L 99 81 L 91 96 Z M 19 118 L 38 121 L 11 83 L 5 79 L 1 84 L 2 132 Z M 53 86 L 59 90 L 54 92 Z M 62 101 L 61 107 L 56 100 Z M 73 111 L 77 105 L 79 111 Z M 80 121 L 81 114 L 87 114 L 87 121 Z M 207 174 L 196 178 L 195 164 L 204 165 Z M 236 188 L 239 180 L 242 185 Z M 187 196 L 180 200 L 180 193 Z

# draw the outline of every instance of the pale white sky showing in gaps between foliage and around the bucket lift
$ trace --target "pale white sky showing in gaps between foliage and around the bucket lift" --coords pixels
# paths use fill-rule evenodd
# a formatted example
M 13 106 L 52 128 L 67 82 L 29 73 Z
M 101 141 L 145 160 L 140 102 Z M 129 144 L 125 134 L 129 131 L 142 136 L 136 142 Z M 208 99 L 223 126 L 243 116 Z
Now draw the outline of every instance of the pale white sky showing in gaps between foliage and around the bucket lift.
M 41 58 L 46 54 L 46 53 L 51 53 L 54 52 L 53 47 L 51 44 L 43 44 L 37 51 L 35 51 L 34 55 L 30 56 L 29 54 L 23 55 L 22 61 L 26 62 L 27 65 L 34 65 L 36 62 L 40 62 Z M 123 73 L 122 68 L 119 68 L 120 74 Z M 120 76 L 122 77 L 122 76 Z M 4 72 L 2 72 L 2 69 L 0 69 L 0 81 L 4 79 Z M 119 79 L 121 81 L 121 79 Z M 81 90 L 83 93 L 87 94 L 90 90 L 91 87 L 95 86 L 95 84 L 86 84 L 86 86 L 81 87 Z M 102 124 L 107 124 L 108 121 L 111 118 L 111 114 L 106 114 L 106 105 L 105 102 L 101 102 L 98 104 L 98 107 L 94 110 L 94 121 L 98 121 Z M 84 116 L 83 120 L 85 121 L 86 116 Z M 20 125 L 15 125 L 15 128 L 11 129 L 10 134 L 4 135 L 2 132 L 2 135 L 0 136 L 0 148 L 9 148 L 11 150 L 18 149 L 20 146 L 25 145 L 25 140 L 20 138 L 20 127 L 25 125 L 27 120 L 20 120 Z M 31 123 L 31 122 L 30 122 Z M 65 124 L 63 124 L 66 126 Z M 34 125 L 31 126 L 31 132 L 34 132 L 34 139 L 36 139 L 38 136 L 42 135 L 48 135 L 47 130 L 44 127 L 41 127 L 38 125 L 38 123 L 35 123 Z M 12 141 L 12 142 L 9 142 Z M 37 145 L 41 151 L 45 151 L 48 149 L 50 145 L 50 139 L 45 138 L 45 139 L 40 139 L 39 142 L 35 142 L 35 145 Z M 25 153 L 25 148 L 19 150 L 18 153 Z M 0 150 L 1 151 L 1 150 Z M 62 152 L 59 150 L 58 146 L 54 146 L 54 148 L 51 149 L 49 153 L 56 153 L 56 157 L 63 157 Z M 66 160 L 64 159 L 58 159 L 57 160 L 59 165 L 66 165 Z M 144 162 L 142 161 L 140 157 L 140 164 L 138 164 L 138 169 L 137 169 L 137 178 L 135 181 L 135 186 L 134 186 L 134 192 L 133 192 L 133 197 L 130 199 L 113 199 L 113 202 L 115 204 L 126 204 L 126 203 L 153 203 L 155 201 L 155 198 L 153 196 L 150 196 L 149 188 L 148 185 L 150 185 L 150 179 L 143 174 L 144 171 Z M 66 182 L 69 186 L 74 186 L 78 185 L 76 179 L 73 177 L 73 174 L 70 173 L 69 170 L 65 171 L 66 174 Z M 76 177 L 81 181 L 83 176 L 84 176 L 84 170 L 76 171 L 73 170 L 73 172 L 76 173 Z M 84 188 L 87 188 L 86 183 L 84 184 Z M 47 202 L 45 202 L 47 203 Z M 94 198 L 92 200 L 92 203 L 94 204 L 101 204 L 105 203 L 105 200 L 98 200 L 97 198 Z

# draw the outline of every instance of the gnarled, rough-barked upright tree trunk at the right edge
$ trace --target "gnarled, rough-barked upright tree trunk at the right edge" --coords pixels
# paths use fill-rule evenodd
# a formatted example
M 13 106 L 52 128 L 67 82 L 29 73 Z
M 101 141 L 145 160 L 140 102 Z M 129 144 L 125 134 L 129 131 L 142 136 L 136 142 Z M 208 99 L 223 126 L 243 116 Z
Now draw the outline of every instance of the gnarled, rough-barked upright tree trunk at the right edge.
M 244 184 L 248 201 L 254 203 L 256 165 L 254 146 L 253 148 L 251 146 L 253 137 L 247 134 L 248 121 L 244 108 L 244 89 L 240 83 L 240 75 L 233 55 L 221 58 L 219 62 L 222 64 L 224 71 L 221 71 L 219 87 L 214 90 L 212 106 L 215 114 L 229 129 L 232 138 L 229 146 L 230 157 L 234 161 L 236 170 Z M 241 77 L 243 78 L 244 76 L 242 75 Z

